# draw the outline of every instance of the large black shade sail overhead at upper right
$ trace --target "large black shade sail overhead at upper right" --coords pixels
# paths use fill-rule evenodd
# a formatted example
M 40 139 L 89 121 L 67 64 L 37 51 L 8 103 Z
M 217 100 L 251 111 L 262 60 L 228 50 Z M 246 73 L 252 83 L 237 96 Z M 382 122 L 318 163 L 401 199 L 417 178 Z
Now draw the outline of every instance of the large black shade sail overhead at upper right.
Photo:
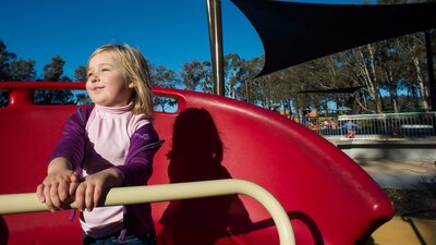
M 266 75 L 316 58 L 436 27 L 436 3 L 338 5 L 232 0 L 258 33 Z

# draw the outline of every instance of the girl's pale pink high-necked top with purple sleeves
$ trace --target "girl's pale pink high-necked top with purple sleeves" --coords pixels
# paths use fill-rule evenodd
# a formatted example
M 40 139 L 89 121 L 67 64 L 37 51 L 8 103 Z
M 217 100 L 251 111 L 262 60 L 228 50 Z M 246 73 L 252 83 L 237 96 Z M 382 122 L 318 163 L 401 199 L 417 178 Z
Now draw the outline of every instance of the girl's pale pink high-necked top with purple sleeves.
M 66 122 L 52 158 L 68 158 L 86 176 L 117 168 L 123 186 L 145 185 L 153 171 L 153 156 L 160 142 L 144 114 L 132 113 L 133 103 L 120 108 L 95 106 L 78 110 Z M 128 234 L 153 229 L 148 204 L 95 208 L 81 216 L 84 232 L 101 237 L 126 228 Z

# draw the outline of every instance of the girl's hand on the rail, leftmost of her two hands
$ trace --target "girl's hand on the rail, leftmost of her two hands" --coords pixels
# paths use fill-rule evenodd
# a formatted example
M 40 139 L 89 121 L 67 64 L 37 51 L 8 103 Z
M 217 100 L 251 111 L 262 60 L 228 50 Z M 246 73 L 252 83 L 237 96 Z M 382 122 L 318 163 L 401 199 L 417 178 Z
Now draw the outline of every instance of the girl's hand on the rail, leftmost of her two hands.
M 36 196 L 50 211 L 69 209 L 81 179 L 72 170 L 51 172 L 36 188 Z

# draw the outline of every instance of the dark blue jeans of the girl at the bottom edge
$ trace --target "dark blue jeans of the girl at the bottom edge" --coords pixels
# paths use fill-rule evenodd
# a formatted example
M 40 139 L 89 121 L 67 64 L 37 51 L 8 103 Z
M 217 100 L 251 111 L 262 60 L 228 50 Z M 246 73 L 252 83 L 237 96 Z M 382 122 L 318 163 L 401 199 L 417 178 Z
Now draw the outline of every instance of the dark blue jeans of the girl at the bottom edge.
M 111 235 L 107 235 L 101 238 L 93 238 L 83 235 L 84 245 L 156 245 L 156 235 L 154 232 L 146 232 L 141 235 L 126 235 L 123 241 L 121 241 L 120 232 Z

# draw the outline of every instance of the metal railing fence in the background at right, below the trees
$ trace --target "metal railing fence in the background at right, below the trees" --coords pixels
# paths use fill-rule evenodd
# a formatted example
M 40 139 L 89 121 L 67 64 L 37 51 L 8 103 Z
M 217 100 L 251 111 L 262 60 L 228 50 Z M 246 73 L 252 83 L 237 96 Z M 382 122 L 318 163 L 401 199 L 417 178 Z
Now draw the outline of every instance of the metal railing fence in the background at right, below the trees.
M 435 136 L 436 112 L 308 118 L 306 126 L 327 139 L 395 139 Z

